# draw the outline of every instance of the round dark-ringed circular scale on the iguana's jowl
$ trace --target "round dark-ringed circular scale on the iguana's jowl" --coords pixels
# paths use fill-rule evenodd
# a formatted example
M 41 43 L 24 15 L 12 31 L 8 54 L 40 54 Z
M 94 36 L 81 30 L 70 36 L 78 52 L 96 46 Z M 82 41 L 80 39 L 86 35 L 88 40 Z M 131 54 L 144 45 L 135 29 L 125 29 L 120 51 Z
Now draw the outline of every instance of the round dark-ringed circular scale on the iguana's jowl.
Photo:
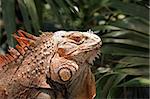
M 72 77 L 72 72 L 69 68 L 62 68 L 59 70 L 58 73 L 59 73 L 60 79 L 64 82 L 70 80 L 70 78 Z

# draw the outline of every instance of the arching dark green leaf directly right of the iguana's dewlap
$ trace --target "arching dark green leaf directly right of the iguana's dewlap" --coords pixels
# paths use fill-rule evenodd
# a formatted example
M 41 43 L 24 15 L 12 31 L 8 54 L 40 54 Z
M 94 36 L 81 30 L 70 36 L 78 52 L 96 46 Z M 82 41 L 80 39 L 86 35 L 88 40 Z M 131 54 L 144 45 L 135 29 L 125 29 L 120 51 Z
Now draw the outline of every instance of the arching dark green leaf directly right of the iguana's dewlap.
M 109 90 L 115 87 L 125 77 L 126 74 L 120 74 L 115 72 L 110 72 L 99 76 L 99 79 L 96 81 L 96 99 L 106 98 Z

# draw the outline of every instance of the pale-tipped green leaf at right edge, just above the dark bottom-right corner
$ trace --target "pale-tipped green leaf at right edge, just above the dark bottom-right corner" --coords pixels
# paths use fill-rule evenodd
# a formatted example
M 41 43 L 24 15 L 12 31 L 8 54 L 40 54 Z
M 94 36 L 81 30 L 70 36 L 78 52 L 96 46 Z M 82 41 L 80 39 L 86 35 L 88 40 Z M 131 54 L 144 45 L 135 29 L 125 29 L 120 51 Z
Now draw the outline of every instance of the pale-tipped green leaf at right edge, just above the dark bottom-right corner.
M 134 79 L 131 79 L 127 82 L 124 82 L 120 85 L 117 85 L 117 87 L 148 87 L 150 85 L 150 79 L 148 78 L 142 78 L 142 77 L 137 77 Z

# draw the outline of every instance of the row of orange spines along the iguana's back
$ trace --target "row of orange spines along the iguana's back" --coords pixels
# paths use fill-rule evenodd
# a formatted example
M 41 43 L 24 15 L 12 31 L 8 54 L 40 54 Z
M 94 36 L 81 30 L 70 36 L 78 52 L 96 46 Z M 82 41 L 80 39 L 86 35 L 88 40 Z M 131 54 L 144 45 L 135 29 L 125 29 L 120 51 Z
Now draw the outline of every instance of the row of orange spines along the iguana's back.
M 30 46 L 34 46 L 35 41 L 38 39 L 38 37 L 23 30 L 18 30 L 13 36 L 19 44 L 17 44 L 15 48 L 9 47 L 6 55 L 0 55 L 0 70 L 2 70 L 5 65 L 15 61 L 20 55 L 24 55 L 26 50 L 28 50 Z

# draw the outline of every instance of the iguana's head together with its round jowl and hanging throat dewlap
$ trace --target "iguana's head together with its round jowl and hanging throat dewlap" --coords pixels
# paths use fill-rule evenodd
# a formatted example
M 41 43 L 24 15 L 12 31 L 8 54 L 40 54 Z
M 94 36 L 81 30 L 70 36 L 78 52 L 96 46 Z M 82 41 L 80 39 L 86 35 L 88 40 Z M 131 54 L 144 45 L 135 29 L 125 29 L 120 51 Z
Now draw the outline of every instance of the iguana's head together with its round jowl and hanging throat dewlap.
M 87 63 L 92 63 L 100 53 L 101 39 L 92 32 L 57 31 L 52 41 L 56 52 L 47 73 L 48 81 L 64 84 L 68 99 L 93 99 L 95 80 Z

